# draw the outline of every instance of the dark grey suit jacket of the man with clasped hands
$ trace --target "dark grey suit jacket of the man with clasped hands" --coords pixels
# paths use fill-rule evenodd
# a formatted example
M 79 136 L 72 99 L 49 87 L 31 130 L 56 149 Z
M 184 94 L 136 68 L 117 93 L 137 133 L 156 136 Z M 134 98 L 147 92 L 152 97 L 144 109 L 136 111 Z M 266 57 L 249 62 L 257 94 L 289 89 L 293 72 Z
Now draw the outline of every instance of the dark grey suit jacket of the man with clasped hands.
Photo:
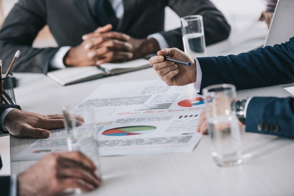
M 203 16 L 206 44 L 228 37 L 230 26 L 208 0 L 123 0 L 124 16 L 115 29 L 135 38 L 160 32 L 170 47 L 182 49 L 180 29 L 164 32 L 164 9 L 170 6 L 179 16 Z M 58 46 L 77 46 L 82 35 L 99 27 L 87 0 L 19 0 L 0 31 L 0 58 L 8 68 L 16 50 L 21 51 L 14 72 L 50 70 L 49 62 L 59 48 L 31 48 L 37 33 L 48 24 Z

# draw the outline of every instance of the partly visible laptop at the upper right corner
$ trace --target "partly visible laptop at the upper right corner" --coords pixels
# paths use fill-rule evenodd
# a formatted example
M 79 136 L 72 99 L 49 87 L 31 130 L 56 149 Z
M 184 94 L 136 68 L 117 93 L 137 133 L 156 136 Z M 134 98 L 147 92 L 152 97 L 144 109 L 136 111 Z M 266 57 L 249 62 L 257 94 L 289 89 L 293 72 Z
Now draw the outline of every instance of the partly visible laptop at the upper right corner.
M 285 43 L 294 36 L 294 0 L 278 0 L 265 46 Z

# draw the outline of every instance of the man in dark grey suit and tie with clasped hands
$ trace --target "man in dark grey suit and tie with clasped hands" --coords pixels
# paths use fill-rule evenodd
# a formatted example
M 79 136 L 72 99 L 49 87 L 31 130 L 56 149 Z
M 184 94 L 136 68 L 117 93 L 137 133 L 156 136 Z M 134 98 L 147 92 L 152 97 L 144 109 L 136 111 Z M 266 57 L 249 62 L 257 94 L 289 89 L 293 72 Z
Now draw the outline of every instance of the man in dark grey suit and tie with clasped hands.
M 0 54 L 14 72 L 47 73 L 64 66 L 93 66 L 143 57 L 165 47 L 183 49 L 180 29 L 164 31 L 164 9 L 203 16 L 207 44 L 228 37 L 230 26 L 209 0 L 19 0 L 0 31 Z M 57 48 L 32 48 L 44 25 Z

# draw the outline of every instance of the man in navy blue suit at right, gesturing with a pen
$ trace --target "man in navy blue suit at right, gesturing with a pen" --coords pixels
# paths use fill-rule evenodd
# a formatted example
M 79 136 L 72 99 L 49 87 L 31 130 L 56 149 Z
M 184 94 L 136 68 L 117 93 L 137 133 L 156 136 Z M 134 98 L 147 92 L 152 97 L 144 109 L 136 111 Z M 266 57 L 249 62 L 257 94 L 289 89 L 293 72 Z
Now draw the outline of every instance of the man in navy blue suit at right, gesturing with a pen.
M 231 83 L 237 89 L 258 88 L 294 82 L 294 37 L 286 43 L 266 46 L 239 55 L 192 58 L 177 48 L 165 48 L 149 60 L 160 78 L 169 86 L 194 83 L 202 93 L 206 86 Z M 190 61 L 191 66 L 164 61 L 163 56 Z M 246 131 L 294 138 L 294 99 L 254 97 L 240 103 Z M 201 115 L 205 122 L 205 115 Z M 201 120 L 201 119 L 200 119 Z M 198 124 L 204 133 L 207 123 Z

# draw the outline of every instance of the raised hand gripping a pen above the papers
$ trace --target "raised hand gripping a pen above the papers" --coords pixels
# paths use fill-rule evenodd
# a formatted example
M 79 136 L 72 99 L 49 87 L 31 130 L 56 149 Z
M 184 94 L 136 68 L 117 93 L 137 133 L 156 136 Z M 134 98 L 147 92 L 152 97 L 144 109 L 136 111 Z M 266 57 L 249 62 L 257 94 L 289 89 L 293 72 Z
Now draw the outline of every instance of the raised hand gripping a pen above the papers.
M 149 59 L 149 64 L 169 86 L 184 86 L 196 82 L 196 61 L 177 48 L 163 48 L 157 52 L 158 56 Z M 191 62 L 191 66 L 165 61 L 163 56 Z

